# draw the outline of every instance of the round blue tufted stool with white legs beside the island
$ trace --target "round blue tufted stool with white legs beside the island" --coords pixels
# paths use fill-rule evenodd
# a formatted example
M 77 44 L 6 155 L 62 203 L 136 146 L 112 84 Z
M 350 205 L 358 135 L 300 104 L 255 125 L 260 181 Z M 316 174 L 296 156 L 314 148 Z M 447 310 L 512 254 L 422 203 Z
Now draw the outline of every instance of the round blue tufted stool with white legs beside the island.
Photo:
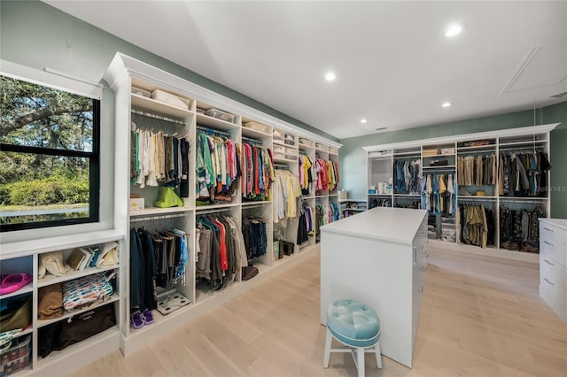
M 346 348 L 330 348 L 332 338 L 345 344 Z M 382 368 L 380 355 L 380 319 L 369 306 L 351 299 L 340 299 L 327 308 L 327 341 L 323 366 L 329 367 L 330 352 L 350 352 L 358 368 L 359 377 L 364 376 L 364 353 L 376 353 L 378 368 Z

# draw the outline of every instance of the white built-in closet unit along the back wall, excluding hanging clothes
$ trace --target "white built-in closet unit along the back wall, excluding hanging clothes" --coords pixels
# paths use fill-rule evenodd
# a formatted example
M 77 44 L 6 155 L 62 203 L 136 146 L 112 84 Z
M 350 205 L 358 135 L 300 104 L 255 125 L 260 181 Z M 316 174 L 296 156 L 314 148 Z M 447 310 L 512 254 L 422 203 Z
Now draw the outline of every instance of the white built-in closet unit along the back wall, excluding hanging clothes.
M 517 127 L 499 131 L 489 131 L 475 134 L 454 135 L 447 137 L 416 140 L 411 142 L 395 142 L 390 144 L 364 147 L 367 153 L 368 171 L 368 206 L 413 206 L 421 208 L 423 205 L 422 190 L 419 192 L 396 190 L 393 181 L 396 161 L 411 160 L 419 163 L 419 176 L 421 178 L 431 173 L 454 174 L 457 179 L 458 158 L 496 156 L 497 171 L 500 168 L 499 157 L 505 153 L 525 153 L 543 151 L 550 156 L 550 132 L 558 125 L 548 124 L 540 126 Z M 434 160 L 443 160 L 442 165 L 432 163 Z M 549 188 L 550 175 L 547 173 L 547 182 L 542 186 Z M 392 188 L 386 192 L 386 183 L 392 180 Z M 383 189 L 380 186 L 384 187 Z M 500 242 L 500 209 L 502 206 L 514 210 L 527 209 L 532 211 L 540 207 L 549 217 L 551 209 L 549 191 L 546 190 L 538 196 L 504 196 L 499 195 L 499 183 L 494 185 L 458 186 L 456 203 L 482 204 L 489 208 L 494 216 L 494 242 L 487 248 L 462 244 L 459 241 L 459 217 L 454 213 L 452 218 L 439 215 L 431 219 L 430 214 L 430 242 L 439 242 L 439 246 L 454 250 L 468 250 L 481 254 L 495 255 L 503 258 L 512 258 L 537 262 L 539 256 L 534 252 L 507 250 Z M 442 231 L 445 228 L 446 233 Z M 432 231 L 431 231 L 432 230 Z

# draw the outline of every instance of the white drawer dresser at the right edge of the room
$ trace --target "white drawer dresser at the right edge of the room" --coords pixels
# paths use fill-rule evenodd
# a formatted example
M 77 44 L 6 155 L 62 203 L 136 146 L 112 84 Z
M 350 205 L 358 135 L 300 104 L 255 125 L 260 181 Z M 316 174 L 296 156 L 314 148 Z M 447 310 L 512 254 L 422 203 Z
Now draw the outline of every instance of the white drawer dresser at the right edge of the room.
M 540 219 L 540 296 L 567 322 L 567 219 Z

